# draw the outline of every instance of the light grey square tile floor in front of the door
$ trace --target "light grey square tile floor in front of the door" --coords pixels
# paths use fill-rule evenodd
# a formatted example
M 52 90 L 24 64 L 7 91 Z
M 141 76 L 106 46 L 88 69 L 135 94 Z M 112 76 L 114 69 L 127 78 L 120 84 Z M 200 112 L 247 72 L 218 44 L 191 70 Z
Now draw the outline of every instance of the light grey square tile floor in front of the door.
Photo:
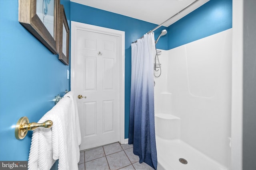
M 154 170 L 148 164 L 140 164 L 133 154 L 133 145 L 112 143 L 80 152 L 79 170 Z

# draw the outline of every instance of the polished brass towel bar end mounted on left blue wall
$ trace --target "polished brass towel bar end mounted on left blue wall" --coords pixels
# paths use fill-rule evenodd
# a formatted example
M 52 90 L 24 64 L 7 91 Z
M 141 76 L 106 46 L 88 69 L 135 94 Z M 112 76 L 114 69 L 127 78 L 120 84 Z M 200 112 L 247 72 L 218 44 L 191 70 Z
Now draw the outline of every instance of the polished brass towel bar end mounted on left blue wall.
M 28 117 L 20 117 L 15 127 L 15 137 L 16 139 L 24 139 L 28 131 L 34 131 L 38 127 L 50 128 L 52 127 L 53 122 L 50 120 L 45 121 L 44 123 L 29 123 Z

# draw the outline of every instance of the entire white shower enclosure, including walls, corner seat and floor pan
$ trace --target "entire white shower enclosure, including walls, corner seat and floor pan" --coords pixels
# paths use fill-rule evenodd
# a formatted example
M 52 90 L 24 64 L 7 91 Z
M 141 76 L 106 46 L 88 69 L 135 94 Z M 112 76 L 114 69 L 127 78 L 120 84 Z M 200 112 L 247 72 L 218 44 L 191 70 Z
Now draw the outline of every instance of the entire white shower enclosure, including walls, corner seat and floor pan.
M 160 51 L 158 169 L 230 169 L 232 29 Z

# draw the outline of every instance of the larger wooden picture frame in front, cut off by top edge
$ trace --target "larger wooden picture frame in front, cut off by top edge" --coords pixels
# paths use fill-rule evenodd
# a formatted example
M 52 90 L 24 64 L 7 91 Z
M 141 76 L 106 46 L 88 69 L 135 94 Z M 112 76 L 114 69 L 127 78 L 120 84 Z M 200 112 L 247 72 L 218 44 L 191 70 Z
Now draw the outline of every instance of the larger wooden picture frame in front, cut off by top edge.
M 19 22 L 56 55 L 59 7 L 60 0 L 19 0 Z

